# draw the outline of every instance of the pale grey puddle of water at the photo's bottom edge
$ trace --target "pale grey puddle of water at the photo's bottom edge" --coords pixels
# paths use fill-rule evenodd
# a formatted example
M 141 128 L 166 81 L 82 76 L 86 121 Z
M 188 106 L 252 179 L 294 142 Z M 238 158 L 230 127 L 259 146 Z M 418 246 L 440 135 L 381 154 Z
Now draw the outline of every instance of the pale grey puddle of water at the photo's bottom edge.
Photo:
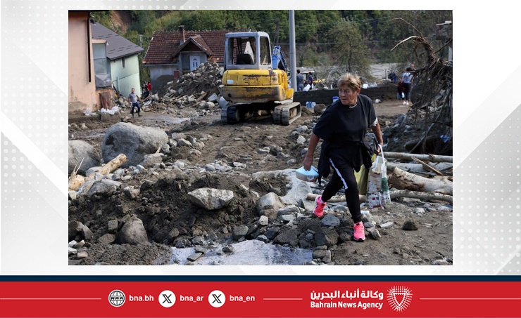
M 291 251 L 289 247 L 266 244 L 262 241 L 251 240 L 230 244 L 234 253 L 218 255 L 216 252 L 223 246 L 206 252 L 198 260 L 196 265 L 304 265 L 312 259 L 312 251 L 296 248 Z M 195 253 L 194 248 L 176 249 L 172 247 L 173 260 L 179 263 L 172 265 L 184 265 L 187 257 Z

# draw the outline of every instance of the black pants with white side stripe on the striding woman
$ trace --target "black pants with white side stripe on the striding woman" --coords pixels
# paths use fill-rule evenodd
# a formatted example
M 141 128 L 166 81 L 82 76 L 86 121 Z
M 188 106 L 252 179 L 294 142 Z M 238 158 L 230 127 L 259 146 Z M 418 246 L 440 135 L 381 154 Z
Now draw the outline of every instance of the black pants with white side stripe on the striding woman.
M 344 187 L 346 189 L 346 203 L 353 218 L 354 223 L 362 220 L 360 212 L 360 199 L 358 198 L 358 185 L 356 184 L 355 171 L 345 160 L 341 158 L 329 159 L 329 164 L 333 168 L 333 176 L 331 181 L 327 183 L 324 193 L 322 193 L 322 201 L 331 199 L 334 194 Z

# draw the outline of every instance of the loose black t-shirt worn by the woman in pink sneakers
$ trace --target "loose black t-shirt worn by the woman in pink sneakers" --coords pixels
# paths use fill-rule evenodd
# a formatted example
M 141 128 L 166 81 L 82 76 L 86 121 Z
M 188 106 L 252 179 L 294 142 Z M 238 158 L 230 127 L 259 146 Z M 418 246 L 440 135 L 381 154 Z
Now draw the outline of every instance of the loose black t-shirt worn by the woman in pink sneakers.
M 355 107 L 342 105 L 340 100 L 329 105 L 313 128 L 313 133 L 324 140 L 321 161 L 324 155 L 339 157 L 358 171 L 365 154 L 365 133 L 376 118 L 372 100 L 366 95 L 358 95 Z

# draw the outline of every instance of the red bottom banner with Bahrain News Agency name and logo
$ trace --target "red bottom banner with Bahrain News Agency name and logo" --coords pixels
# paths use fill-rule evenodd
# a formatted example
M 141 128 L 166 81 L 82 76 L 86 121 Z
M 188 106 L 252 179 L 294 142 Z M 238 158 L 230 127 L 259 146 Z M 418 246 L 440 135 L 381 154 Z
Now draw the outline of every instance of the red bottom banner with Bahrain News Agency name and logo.
M 521 313 L 520 281 L 225 279 L 0 281 L 0 317 L 520 317 Z

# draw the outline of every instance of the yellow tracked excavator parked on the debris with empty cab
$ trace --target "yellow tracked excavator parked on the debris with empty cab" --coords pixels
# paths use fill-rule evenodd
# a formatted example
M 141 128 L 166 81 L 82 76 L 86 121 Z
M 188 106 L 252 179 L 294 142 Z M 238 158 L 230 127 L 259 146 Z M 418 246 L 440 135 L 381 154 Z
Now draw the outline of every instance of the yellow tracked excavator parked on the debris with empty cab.
M 229 105 L 221 120 L 234 124 L 258 114 L 271 114 L 275 124 L 289 125 L 301 117 L 301 105 L 293 102 L 287 65 L 280 46 L 271 50 L 265 32 L 226 34 L 225 72 L 220 92 Z

